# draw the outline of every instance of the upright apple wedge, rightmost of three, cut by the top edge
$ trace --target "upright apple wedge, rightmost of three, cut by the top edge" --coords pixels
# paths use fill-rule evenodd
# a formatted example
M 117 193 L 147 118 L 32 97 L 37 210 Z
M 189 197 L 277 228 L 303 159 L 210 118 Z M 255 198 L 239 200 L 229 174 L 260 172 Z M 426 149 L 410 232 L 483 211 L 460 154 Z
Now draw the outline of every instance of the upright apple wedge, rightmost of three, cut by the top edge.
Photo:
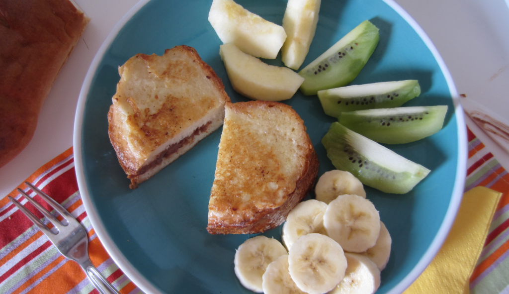
M 287 39 L 281 48 L 281 60 L 295 70 L 304 62 L 315 37 L 321 0 L 288 0 L 283 28 Z

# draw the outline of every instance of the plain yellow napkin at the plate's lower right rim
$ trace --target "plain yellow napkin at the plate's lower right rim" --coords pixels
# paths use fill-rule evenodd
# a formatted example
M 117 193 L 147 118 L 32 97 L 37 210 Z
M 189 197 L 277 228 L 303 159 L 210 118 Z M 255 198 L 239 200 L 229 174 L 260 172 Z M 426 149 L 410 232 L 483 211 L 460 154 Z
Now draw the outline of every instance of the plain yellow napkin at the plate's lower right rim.
M 468 294 L 469 279 L 483 249 L 502 193 L 477 186 L 463 195 L 442 248 L 403 294 Z

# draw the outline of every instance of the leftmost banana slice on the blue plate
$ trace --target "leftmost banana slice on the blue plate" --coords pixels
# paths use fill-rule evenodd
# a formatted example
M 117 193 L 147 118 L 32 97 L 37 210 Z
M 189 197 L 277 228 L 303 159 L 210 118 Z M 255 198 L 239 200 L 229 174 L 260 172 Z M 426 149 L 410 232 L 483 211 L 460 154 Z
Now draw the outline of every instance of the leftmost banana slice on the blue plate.
M 262 235 L 247 239 L 235 252 L 235 275 L 244 287 L 261 293 L 262 276 L 267 266 L 285 254 L 288 254 L 287 250 L 276 239 Z

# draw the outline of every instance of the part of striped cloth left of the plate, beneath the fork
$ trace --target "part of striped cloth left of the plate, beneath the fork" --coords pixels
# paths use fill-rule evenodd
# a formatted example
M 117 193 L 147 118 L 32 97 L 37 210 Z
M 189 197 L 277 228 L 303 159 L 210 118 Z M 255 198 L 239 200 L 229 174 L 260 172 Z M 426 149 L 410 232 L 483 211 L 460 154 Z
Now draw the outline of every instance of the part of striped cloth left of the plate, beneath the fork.
M 78 191 L 72 148 L 42 166 L 26 181 L 61 203 L 87 229 L 90 259 L 114 287 L 122 294 L 143 293 L 109 257 L 90 224 Z M 23 183 L 18 188 L 26 189 L 26 186 Z M 9 195 L 25 205 L 26 200 L 17 191 Z M 31 209 L 32 205 L 25 207 L 43 217 Z M 6 196 L 0 200 L 0 293 L 98 294 L 99 291 L 79 265 L 62 256 Z

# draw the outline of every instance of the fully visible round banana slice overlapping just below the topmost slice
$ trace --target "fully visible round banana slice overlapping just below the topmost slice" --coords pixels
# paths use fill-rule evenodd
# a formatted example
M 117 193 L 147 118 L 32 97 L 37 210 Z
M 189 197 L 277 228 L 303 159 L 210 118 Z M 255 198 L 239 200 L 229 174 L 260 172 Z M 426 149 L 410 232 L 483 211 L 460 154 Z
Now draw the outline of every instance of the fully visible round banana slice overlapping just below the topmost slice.
M 323 225 L 327 235 L 345 251 L 360 253 L 375 246 L 380 215 L 371 201 L 357 195 L 340 195 L 329 203 Z

